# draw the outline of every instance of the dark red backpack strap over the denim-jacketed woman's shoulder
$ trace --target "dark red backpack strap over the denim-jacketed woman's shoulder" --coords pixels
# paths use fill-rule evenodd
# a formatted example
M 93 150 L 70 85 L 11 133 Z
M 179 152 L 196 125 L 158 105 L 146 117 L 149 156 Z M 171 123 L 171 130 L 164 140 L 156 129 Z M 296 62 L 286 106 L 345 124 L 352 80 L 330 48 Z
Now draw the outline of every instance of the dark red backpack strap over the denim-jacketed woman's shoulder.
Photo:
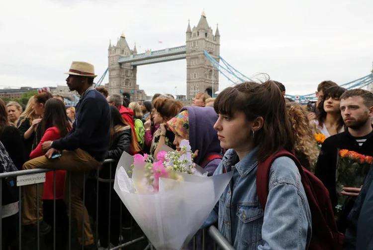
M 279 157 L 286 156 L 292 159 L 296 166 L 298 167 L 298 170 L 300 172 L 303 172 L 302 166 L 299 162 L 299 160 L 291 154 L 289 151 L 286 150 L 280 150 L 279 152 L 271 155 L 268 157 L 264 162 L 259 163 L 258 169 L 257 169 L 257 179 L 256 179 L 256 184 L 257 184 L 257 194 L 259 198 L 260 205 L 262 206 L 263 210 L 266 207 L 267 204 L 267 197 L 269 194 L 269 178 L 270 178 L 270 169 L 272 166 L 272 163 Z

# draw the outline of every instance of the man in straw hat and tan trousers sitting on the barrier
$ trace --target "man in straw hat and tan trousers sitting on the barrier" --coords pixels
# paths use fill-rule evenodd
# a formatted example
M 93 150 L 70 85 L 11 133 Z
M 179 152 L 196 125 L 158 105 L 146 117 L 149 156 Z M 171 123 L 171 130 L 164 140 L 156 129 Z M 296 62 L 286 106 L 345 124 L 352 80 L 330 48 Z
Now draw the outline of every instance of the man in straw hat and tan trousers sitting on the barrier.
M 104 96 L 93 88 L 94 67 L 86 62 L 71 64 L 67 86 L 81 96 L 76 106 L 76 120 L 71 131 L 63 138 L 46 141 L 42 148 L 45 156 L 24 163 L 24 169 L 49 168 L 68 170 L 71 175 L 71 209 L 77 220 L 78 240 L 85 249 L 96 249 L 90 219 L 81 195 L 88 172 L 97 169 L 105 159 L 110 143 L 110 109 Z M 61 153 L 58 158 L 52 157 Z M 39 208 L 42 208 L 43 185 L 39 187 Z M 36 185 L 24 189 L 22 224 L 27 232 L 35 232 L 37 225 Z M 65 201 L 69 202 L 69 188 L 65 189 Z M 83 212 L 84 210 L 84 212 Z M 84 213 L 84 218 L 83 218 Z M 50 226 L 43 222 L 39 209 L 40 233 L 46 234 Z M 83 234 L 84 223 L 84 234 Z

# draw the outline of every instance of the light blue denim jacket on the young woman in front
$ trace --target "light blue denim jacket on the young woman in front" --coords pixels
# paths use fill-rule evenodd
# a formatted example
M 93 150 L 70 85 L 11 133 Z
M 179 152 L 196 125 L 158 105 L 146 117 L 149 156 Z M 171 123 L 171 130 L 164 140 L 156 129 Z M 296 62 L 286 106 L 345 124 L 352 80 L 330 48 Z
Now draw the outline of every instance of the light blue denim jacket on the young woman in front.
M 236 250 L 306 250 L 311 212 L 298 169 L 288 157 L 274 161 L 263 211 L 256 187 L 257 151 L 241 161 L 233 149 L 225 153 L 214 175 L 225 168 L 233 177 L 202 227 L 218 222 L 220 233 Z

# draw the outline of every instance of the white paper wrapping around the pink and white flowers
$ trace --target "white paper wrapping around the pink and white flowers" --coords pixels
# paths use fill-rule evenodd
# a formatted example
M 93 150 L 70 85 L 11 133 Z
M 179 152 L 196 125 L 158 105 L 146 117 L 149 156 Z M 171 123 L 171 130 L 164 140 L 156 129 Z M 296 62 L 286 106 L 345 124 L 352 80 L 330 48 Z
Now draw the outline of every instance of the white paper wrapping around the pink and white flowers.
M 207 219 L 232 177 L 181 173 L 184 181 L 160 178 L 158 193 L 134 193 L 133 156 L 123 153 L 115 173 L 114 189 L 157 250 L 180 250 Z M 134 175 L 137 175 L 134 169 Z

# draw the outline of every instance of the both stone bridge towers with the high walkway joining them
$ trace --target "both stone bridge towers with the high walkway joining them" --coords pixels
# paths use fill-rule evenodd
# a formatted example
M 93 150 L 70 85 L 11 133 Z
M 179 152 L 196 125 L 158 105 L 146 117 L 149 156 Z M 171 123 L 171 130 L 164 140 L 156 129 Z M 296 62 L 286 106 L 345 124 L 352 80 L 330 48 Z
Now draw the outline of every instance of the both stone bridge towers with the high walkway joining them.
M 107 85 L 111 94 L 124 94 L 131 101 L 144 100 L 146 94 L 137 84 L 137 67 L 141 65 L 168 62 L 174 60 L 187 61 L 187 100 L 199 92 L 212 92 L 218 90 L 218 69 L 211 64 L 204 53 L 219 62 L 220 33 L 216 28 L 213 33 L 208 25 L 206 14 L 202 12 L 197 26 L 190 27 L 188 23 L 186 31 L 186 44 L 162 50 L 147 50 L 137 53 L 136 45 L 130 49 L 124 34 L 116 45 L 108 47 L 108 74 Z

